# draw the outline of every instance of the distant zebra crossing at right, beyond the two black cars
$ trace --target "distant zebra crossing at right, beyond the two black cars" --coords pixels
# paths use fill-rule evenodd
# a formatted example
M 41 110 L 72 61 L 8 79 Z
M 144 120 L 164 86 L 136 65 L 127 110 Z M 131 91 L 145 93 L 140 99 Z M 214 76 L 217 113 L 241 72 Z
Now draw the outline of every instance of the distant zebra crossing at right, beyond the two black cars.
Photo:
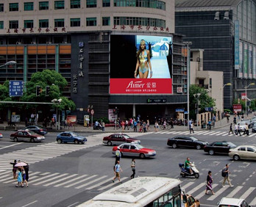
M 154 132 L 154 134 L 175 134 L 175 135 L 188 135 L 190 134 L 189 131 L 157 131 Z M 241 134 L 243 134 L 241 132 Z M 240 137 L 239 135 L 235 134 L 228 134 L 228 131 L 194 131 L 193 134 L 191 135 L 207 135 L 207 136 L 235 136 L 235 137 Z M 256 137 L 256 133 L 251 133 L 249 136 L 247 135 L 241 135 L 241 137 Z

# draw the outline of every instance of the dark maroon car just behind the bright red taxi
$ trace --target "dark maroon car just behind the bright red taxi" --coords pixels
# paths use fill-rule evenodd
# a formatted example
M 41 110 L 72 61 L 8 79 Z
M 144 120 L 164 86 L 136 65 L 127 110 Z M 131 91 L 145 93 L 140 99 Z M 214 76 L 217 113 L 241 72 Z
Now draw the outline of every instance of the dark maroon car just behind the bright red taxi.
M 111 134 L 108 137 L 103 138 L 103 144 L 111 145 L 121 145 L 123 143 L 135 143 L 141 144 L 139 139 L 133 139 L 127 134 Z

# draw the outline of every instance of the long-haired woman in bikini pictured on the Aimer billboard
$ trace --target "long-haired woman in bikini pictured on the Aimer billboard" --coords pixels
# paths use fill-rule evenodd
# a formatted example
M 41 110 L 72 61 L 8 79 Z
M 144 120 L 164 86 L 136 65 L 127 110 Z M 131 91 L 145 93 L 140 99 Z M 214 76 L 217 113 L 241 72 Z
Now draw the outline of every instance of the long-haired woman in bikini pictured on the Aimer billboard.
M 136 79 L 137 73 L 139 72 L 140 79 L 147 79 L 149 76 L 152 78 L 152 65 L 150 62 L 150 51 L 146 49 L 146 41 L 141 40 L 140 48 L 137 52 L 137 64 L 134 72 L 134 77 Z

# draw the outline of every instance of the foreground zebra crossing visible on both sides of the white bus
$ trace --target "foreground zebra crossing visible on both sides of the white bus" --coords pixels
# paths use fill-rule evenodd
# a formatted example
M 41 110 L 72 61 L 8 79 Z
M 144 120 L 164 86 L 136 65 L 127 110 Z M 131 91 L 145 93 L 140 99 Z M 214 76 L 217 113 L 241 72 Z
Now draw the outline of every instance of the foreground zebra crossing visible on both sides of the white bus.
M 111 175 L 79 175 L 70 173 L 59 172 L 30 172 L 29 171 L 29 188 L 36 186 L 40 187 L 64 187 L 72 190 L 97 190 L 99 193 L 107 189 L 111 189 L 113 186 L 118 185 L 118 181 L 113 183 L 113 176 Z M 121 178 L 122 182 L 129 180 L 129 177 Z M 13 180 L 13 173 L 10 170 L 1 172 L 0 182 L 2 184 L 17 184 L 17 181 Z M 210 203 L 217 203 L 221 200 L 221 197 L 239 197 L 245 199 L 249 205 L 256 206 L 256 187 L 248 187 L 238 185 L 234 187 L 225 186 L 222 187 L 221 180 L 216 181 L 213 184 L 213 190 L 215 195 L 212 195 L 209 191 L 208 195 L 205 195 L 205 182 L 198 184 L 196 181 L 189 181 L 185 179 L 182 181 L 182 189 L 185 189 L 185 193 L 193 195 L 196 199 L 204 199 Z

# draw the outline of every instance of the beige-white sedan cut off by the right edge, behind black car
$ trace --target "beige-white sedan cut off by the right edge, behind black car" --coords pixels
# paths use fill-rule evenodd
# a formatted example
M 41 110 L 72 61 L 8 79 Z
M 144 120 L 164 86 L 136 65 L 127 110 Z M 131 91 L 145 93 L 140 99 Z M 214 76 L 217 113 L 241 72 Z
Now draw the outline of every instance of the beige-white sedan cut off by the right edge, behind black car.
M 240 145 L 230 149 L 229 156 L 234 160 L 256 159 L 256 147 L 252 145 Z

